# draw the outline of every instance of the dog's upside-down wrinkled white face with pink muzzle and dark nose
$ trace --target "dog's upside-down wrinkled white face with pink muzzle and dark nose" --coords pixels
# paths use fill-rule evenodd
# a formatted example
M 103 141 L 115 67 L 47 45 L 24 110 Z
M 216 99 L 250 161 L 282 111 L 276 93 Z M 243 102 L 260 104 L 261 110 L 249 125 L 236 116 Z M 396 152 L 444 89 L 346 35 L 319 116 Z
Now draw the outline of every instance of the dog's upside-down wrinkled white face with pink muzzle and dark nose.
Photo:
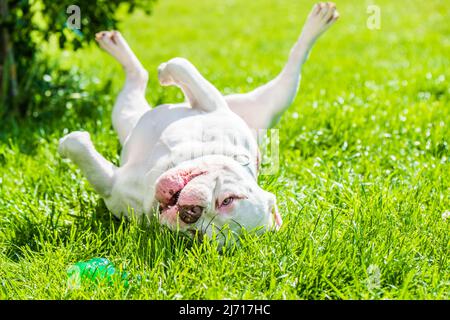
M 281 226 L 275 196 L 236 161 L 207 156 L 187 161 L 156 183 L 160 222 L 172 230 L 212 236 Z

